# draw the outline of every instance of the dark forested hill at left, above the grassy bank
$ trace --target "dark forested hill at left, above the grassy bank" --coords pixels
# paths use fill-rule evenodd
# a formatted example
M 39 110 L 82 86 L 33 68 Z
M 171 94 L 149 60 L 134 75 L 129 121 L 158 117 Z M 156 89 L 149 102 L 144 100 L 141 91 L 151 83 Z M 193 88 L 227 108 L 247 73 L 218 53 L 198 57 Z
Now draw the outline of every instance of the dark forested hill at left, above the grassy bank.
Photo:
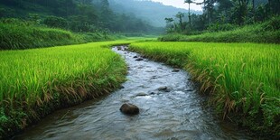
M 117 14 L 108 0 L 0 0 L 1 18 L 33 20 L 73 32 L 155 33 L 132 14 Z

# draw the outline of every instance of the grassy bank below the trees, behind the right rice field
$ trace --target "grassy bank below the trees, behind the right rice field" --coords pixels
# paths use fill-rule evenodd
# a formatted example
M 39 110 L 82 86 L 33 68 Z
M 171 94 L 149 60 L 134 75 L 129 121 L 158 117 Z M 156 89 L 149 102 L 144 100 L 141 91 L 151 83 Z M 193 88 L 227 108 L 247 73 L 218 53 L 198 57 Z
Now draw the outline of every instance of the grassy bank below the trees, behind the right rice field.
M 226 32 L 208 32 L 198 35 L 179 33 L 166 34 L 160 37 L 163 42 L 262 42 L 280 43 L 280 18 L 275 17 L 266 23 L 256 23 L 238 27 Z

